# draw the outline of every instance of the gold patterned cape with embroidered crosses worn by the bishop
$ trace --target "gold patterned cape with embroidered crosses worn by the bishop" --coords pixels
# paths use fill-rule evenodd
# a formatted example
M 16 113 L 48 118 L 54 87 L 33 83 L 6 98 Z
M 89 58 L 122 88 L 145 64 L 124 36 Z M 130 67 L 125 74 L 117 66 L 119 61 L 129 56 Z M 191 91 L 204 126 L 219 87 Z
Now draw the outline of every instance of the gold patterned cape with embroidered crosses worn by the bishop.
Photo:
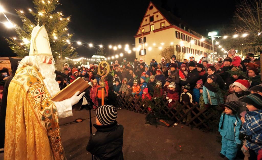
M 66 159 L 57 108 L 30 65 L 17 70 L 8 88 L 4 159 Z

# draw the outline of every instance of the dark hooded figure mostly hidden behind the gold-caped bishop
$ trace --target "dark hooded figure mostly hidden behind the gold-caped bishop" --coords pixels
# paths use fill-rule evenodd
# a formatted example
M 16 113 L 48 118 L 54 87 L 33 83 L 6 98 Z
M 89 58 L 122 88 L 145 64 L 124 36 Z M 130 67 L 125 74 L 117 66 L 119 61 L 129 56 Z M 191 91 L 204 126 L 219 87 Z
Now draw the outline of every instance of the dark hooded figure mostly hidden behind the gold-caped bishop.
M 6 105 L 7 105 L 7 93 L 8 93 L 8 87 L 13 79 L 15 72 L 18 67 L 18 62 L 22 60 L 22 58 L 12 58 L 8 57 L 11 63 L 11 69 L 12 69 L 12 74 L 9 76 L 9 78 L 6 80 L 6 83 L 4 85 L 4 90 L 3 90 L 3 98 L 2 98 L 2 103 L 1 103 L 1 108 L 0 108 L 0 124 L 1 124 L 1 131 L 0 131 L 0 148 L 4 148 L 4 135 L 5 135 L 5 124 L 6 124 Z

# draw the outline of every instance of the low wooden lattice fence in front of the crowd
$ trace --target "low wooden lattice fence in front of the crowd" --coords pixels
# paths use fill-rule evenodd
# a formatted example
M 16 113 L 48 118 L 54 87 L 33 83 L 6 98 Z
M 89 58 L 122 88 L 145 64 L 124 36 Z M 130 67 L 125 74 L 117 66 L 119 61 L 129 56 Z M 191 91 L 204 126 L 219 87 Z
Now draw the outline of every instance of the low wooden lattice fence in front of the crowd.
M 209 126 L 210 123 L 208 121 L 212 121 L 212 117 L 216 114 L 211 112 L 206 115 L 205 111 L 207 108 L 200 109 L 197 104 L 184 104 L 181 105 L 179 101 L 176 101 L 172 107 L 168 107 L 168 101 L 164 101 L 163 104 L 159 104 L 158 101 L 155 101 L 155 97 L 152 97 L 151 100 L 155 106 L 161 108 L 161 114 L 168 116 L 173 119 L 176 123 L 184 122 L 185 125 L 193 126 L 194 128 L 203 128 L 208 131 L 211 129 Z M 125 93 L 119 95 L 116 99 L 117 107 L 121 107 L 127 109 L 129 111 L 134 111 L 140 114 L 151 114 L 154 112 L 154 109 L 148 111 L 148 98 L 142 99 L 141 96 L 133 97 L 133 96 L 125 96 Z M 212 122 L 211 122 L 212 123 Z

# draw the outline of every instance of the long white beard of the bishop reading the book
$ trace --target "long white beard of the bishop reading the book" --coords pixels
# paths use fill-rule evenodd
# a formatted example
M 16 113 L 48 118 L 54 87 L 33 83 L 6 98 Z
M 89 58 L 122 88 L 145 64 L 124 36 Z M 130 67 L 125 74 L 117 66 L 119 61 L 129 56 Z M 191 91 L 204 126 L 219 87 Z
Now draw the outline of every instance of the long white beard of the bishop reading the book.
M 59 91 L 59 85 L 56 81 L 56 74 L 54 73 L 56 69 L 52 64 L 41 63 L 39 64 L 39 71 L 43 76 L 44 84 L 47 91 L 50 93 L 51 97 L 56 95 Z

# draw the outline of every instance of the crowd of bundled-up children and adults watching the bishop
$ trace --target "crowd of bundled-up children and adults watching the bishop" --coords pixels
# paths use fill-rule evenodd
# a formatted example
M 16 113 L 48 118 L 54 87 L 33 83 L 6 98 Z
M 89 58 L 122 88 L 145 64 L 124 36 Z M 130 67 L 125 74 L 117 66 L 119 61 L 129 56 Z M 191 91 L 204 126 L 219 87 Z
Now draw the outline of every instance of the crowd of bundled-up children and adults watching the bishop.
M 97 65 L 90 64 L 89 69 L 73 67 L 70 72 L 69 69 L 65 64 L 64 73 L 73 79 L 80 76 L 92 82 L 88 96 L 101 106 Z M 228 51 L 226 58 L 218 58 L 217 63 L 212 62 L 208 53 L 204 53 L 198 63 L 194 57 L 179 62 L 173 55 L 169 63 L 162 57 L 160 63 L 152 59 L 150 65 L 146 65 L 142 58 L 139 61 L 135 58 L 131 65 L 124 58 L 122 65 L 116 60 L 111 63 L 110 70 L 106 70 L 110 74 L 106 77 L 105 103 L 114 104 L 117 96 L 124 95 L 129 100 L 132 96 L 146 99 L 144 105 L 149 111 L 152 110 L 148 101 L 157 97 L 168 101 L 170 108 L 174 107 L 176 101 L 198 104 L 200 108 L 223 106 L 225 111 L 219 123 L 222 136 L 220 156 L 234 159 L 237 146 L 244 142 L 243 153 L 246 157 L 254 158 L 259 156 L 262 148 L 262 85 L 259 70 L 259 57 L 255 59 L 254 54 L 248 53 L 241 60 L 234 49 Z M 68 83 L 61 79 L 58 82 L 61 89 Z

